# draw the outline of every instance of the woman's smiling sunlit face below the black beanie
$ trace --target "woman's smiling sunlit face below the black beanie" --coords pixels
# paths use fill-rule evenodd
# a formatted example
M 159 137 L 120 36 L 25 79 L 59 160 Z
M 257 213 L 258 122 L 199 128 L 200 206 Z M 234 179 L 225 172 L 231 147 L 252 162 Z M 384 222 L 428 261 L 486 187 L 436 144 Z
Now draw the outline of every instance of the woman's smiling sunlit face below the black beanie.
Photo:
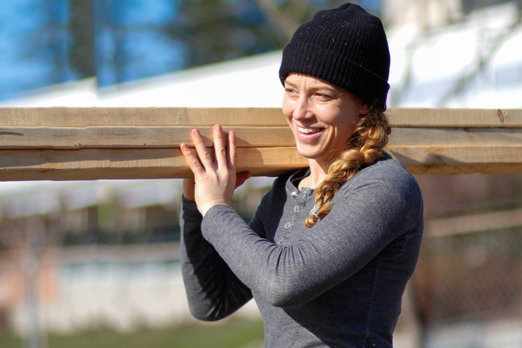
M 283 114 L 298 152 L 319 163 L 346 149 L 366 105 L 350 92 L 317 77 L 291 73 L 284 80 Z

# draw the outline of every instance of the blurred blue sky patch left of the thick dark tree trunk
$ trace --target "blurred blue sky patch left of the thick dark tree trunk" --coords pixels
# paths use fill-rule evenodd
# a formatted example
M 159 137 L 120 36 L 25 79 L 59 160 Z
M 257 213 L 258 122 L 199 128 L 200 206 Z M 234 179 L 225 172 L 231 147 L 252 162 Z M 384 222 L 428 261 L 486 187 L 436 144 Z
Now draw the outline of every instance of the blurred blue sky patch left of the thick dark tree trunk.
M 65 1 L 26 0 L 0 8 L 0 96 L 70 79 Z

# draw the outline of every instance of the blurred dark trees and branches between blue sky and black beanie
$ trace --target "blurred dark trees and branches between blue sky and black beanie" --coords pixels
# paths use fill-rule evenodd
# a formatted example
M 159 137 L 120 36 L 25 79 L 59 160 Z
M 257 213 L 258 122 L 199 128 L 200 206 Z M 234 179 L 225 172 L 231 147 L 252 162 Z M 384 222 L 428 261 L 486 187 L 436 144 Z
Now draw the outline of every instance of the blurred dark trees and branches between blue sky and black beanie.
M 180 0 L 164 32 L 184 47 L 184 67 L 278 50 L 295 29 L 342 0 Z

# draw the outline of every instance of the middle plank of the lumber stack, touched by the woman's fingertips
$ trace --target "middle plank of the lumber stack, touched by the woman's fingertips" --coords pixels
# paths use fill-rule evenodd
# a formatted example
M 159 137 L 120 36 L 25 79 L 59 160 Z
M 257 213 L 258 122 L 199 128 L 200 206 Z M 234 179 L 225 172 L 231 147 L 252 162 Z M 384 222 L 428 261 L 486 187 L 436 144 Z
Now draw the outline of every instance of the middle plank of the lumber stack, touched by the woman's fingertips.
M 170 148 L 191 144 L 186 126 L 88 126 L 88 127 L 2 127 L 3 149 L 80 148 Z M 206 146 L 212 146 L 212 127 L 198 127 Z M 292 131 L 284 127 L 223 127 L 234 130 L 238 147 L 294 146 Z M 522 144 L 522 132 L 514 128 L 418 128 L 396 127 L 390 145 L 412 144 Z

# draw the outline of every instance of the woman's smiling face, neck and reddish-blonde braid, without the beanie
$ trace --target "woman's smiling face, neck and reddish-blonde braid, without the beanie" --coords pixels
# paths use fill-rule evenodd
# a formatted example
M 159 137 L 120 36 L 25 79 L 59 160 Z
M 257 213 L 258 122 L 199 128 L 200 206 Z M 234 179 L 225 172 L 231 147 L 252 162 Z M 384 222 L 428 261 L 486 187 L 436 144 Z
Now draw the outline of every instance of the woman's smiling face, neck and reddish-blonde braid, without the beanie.
M 390 126 L 381 110 L 370 112 L 350 92 L 320 78 L 290 73 L 284 86 L 283 113 L 296 147 L 313 159 L 310 176 L 298 187 L 317 188 L 316 210 L 305 222 L 312 227 L 328 214 L 340 185 L 383 156 Z

